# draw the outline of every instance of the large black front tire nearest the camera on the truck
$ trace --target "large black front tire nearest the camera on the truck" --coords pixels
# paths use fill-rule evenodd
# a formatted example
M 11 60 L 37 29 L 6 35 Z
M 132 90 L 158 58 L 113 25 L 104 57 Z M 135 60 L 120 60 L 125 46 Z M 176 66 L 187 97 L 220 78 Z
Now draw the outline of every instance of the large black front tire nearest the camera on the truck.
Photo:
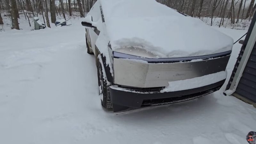
M 103 68 L 103 69 L 102 69 Z M 104 67 L 101 64 L 101 60 L 98 58 L 98 84 L 99 84 L 99 91 L 100 95 L 103 97 L 101 100 L 101 105 L 106 108 L 106 109 L 112 109 L 112 102 L 111 102 L 111 97 L 110 97 L 110 92 L 109 92 L 109 86 L 107 85 L 107 80 L 103 76 L 103 70 Z

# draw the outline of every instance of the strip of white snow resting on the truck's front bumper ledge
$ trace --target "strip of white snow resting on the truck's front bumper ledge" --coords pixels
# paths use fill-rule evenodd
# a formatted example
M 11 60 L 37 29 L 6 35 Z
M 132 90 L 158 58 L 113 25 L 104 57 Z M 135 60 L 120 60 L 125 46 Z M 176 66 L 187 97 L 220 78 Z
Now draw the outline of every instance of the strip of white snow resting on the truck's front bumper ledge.
M 227 71 L 221 71 L 210 75 L 195 77 L 191 79 L 185 79 L 180 81 L 168 82 L 169 86 L 165 87 L 161 92 L 175 92 L 188 89 L 194 89 L 209 84 L 217 83 L 226 79 Z

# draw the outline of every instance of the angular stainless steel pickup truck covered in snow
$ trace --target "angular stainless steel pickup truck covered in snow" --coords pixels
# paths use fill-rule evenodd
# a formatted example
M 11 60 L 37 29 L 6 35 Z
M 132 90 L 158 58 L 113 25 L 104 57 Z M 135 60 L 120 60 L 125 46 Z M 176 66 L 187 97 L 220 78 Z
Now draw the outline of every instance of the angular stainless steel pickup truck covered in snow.
M 114 112 L 195 99 L 227 77 L 233 39 L 155 0 L 98 0 L 82 25 Z

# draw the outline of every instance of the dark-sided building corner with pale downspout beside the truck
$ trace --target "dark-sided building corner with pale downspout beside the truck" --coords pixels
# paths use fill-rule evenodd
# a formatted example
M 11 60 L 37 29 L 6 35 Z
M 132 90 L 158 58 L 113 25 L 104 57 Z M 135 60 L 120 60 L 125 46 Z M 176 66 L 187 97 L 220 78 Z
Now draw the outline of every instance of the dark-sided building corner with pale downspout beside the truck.
M 256 108 L 256 13 L 242 43 L 225 95 L 233 95 Z

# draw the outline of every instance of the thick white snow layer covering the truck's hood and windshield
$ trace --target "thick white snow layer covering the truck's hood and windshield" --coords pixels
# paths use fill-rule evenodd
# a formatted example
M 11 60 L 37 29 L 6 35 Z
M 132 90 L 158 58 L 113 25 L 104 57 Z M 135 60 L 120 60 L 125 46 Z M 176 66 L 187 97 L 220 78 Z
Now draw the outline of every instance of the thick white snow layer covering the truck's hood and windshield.
M 101 0 L 101 6 L 113 50 L 134 46 L 160 57 L 187 57 L 233 46 L 231 37 L 155 0 Z

